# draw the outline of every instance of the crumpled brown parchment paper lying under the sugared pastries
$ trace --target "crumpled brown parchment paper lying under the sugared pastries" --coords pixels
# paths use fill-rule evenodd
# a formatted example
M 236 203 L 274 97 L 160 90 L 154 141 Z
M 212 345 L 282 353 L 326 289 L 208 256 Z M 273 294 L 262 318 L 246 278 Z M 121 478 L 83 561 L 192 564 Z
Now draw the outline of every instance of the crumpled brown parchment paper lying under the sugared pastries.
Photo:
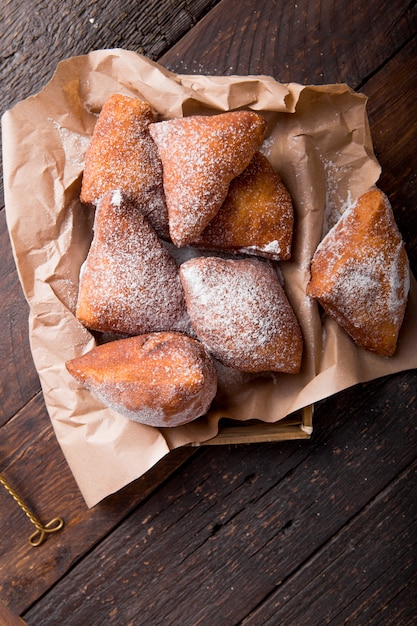
M 65 368 L 95 344 L 74 316 L 93 221 L 79 192 L 97 113 L 114 92 L 147 100 L 161 118 L 239 107 L 260 112 L 268 121 L 263 152 L 294 199 L 293 257 L 280 269 L 304 336 L 300 374 L 250 378 L 224 368 L 209 414 L 177 428 L 125 419 L 80 388 Z M 380 175 L 366 98 L 348 86 L 177 75 L 133 52 L 99 50 L 61 62 L 50 83 L 6 112 L 2 124 L 6 217 L 30 305 L 33 359 L 58 442 L 88 506 L 171 449 L 214 437 L 221 417 L 277 422 L 356 383 L 417 367 L 414 278 L 398 350 L 389 359 L 357 348 L 305 295 L 318 242 Z

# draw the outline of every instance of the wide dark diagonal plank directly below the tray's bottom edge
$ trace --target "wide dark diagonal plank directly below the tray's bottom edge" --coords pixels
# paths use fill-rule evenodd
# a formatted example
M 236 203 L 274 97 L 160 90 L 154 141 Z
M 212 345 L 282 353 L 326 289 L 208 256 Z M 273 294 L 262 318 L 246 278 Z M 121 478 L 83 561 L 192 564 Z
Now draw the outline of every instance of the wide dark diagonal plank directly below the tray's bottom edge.
M 417 373 L 405 380 L 325 402 L 311 444 L 201 449 L 23 617 L 239 623 L 415 460 Z M 398 543 L 381 552 L 393 559 Z

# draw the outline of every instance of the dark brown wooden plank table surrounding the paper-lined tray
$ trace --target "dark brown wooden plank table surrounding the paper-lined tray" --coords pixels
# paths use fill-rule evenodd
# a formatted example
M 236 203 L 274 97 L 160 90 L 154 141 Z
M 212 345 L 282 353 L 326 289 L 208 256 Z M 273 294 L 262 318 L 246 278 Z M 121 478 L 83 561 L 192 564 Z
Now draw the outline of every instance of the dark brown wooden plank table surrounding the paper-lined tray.
M 0 19 L 2 112 L 61 59 L 112 47 L 365 93 L 416 275 L 415 2 L 10 0 Z M 182 448 L 89 510 L 45 409 L 1 207 L 0 473 L 65 527 L 30 547 L 0 487 L 0 623 L 415 624 L 417 372 L 319 402 L 309 441 Z

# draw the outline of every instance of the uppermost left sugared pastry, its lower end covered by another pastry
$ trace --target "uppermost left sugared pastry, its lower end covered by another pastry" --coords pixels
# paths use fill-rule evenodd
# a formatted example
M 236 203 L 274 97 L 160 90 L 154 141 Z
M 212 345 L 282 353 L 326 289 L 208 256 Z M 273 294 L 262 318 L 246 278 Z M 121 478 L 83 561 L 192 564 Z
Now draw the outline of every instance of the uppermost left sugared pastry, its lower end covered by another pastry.
M 113 94 L 97 118 L 85 156 L 81 201 L 96 205 L 120 189 L 146 215 L 157 233 L 169 236 L 162 163 L 149 133 L 151 106 L 138 98 Z

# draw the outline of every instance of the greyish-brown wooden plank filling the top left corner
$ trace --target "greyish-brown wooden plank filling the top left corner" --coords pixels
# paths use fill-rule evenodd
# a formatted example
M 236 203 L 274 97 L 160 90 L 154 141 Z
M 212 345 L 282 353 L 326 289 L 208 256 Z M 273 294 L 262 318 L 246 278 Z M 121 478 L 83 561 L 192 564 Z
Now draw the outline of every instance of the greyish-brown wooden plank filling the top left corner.
M 0 80 L 7 91 L 2 108 L 37 93 L 57 63 L 70 56 L 122 47 L 155 60 L 217 2 L 64 0 L 54 6 L 45 0 L 6 1 Z M 30 80 L 22 80 L 24 76 Z

